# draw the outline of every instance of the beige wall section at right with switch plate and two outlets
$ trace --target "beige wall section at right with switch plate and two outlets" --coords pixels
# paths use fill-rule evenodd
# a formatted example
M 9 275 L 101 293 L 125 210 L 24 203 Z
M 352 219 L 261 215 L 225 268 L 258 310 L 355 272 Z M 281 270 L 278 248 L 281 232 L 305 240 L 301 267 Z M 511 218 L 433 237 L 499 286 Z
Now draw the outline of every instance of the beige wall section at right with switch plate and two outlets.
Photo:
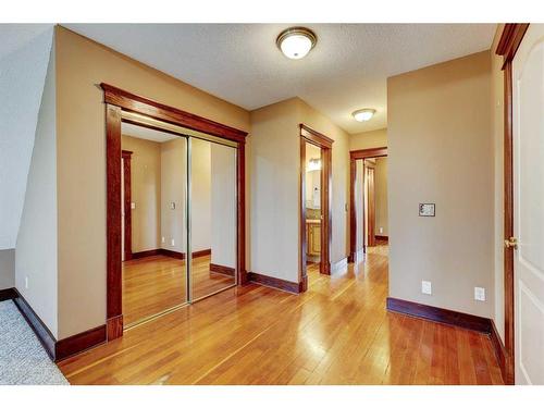
M 392 297 L 494 313 L 490 95 L 489 51 L 387 79 Z M 436 217 L 418 217 L 419 202 L 435 202 Z

